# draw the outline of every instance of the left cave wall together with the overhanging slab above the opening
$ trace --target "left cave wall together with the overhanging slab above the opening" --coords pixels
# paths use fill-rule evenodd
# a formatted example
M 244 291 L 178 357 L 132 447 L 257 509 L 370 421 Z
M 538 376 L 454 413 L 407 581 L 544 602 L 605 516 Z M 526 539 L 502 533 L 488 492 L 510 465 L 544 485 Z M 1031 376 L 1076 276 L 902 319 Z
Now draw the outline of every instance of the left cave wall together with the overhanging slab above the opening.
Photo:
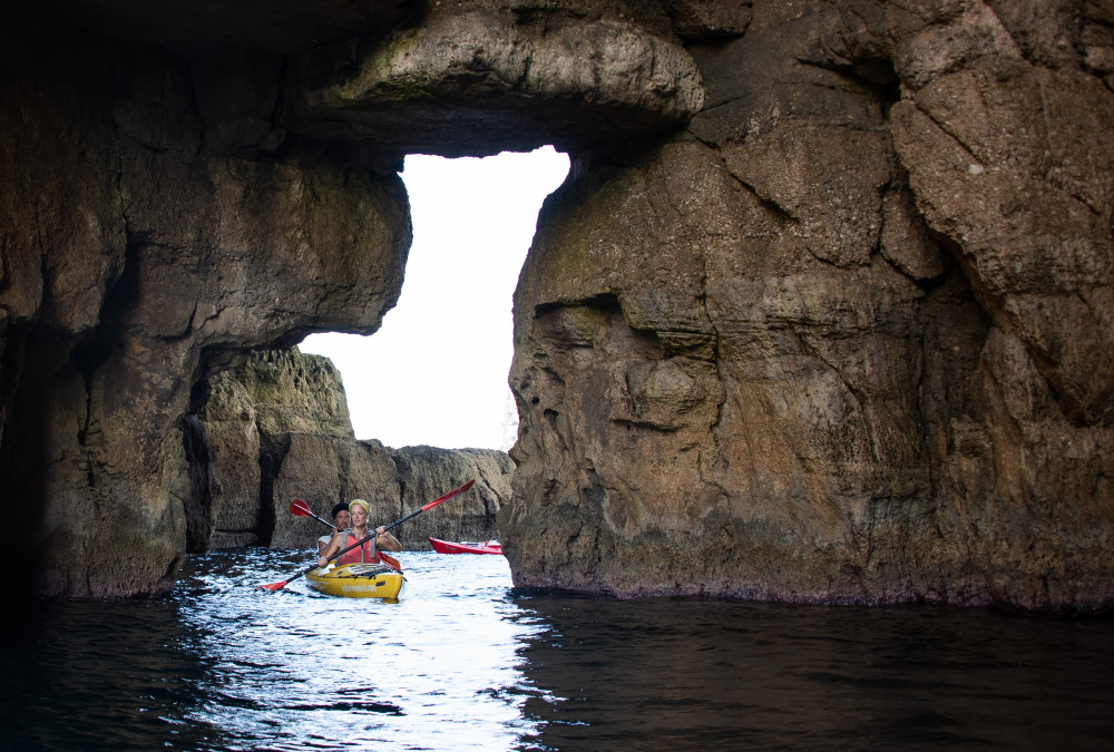
M 213 505 L 234 516 L 205 461 L 221 442 L 237 484 L 257 440 L 277 463 L 261 485 L 295 488 L 325 439 L 215 411 L 208 445 L 203 384 L 312 331 L 379 328 L 408 152 L 649 137 L 703 96 L 654 3 L 187 6 L 48 0 L 0 29 L 0 550 L 43 563 L 37 593 L 170 587 Z M 185 509 L 197 495 L 208 508 Z M 244 514 L 218 543 L 248 539 Z

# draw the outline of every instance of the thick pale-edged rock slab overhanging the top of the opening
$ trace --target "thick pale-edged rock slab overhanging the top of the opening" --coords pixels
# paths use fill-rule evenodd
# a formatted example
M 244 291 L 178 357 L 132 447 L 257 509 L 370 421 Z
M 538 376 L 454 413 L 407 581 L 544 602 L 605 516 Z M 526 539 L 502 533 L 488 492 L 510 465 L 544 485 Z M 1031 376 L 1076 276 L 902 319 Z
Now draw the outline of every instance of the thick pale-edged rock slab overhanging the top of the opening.
M 372 160 L 578 150 L 683 125 L 703 100 L 692 57 L 654 3 L 423 6 L 419 23 L 349 67 L 301 56 L 291 130 Z

